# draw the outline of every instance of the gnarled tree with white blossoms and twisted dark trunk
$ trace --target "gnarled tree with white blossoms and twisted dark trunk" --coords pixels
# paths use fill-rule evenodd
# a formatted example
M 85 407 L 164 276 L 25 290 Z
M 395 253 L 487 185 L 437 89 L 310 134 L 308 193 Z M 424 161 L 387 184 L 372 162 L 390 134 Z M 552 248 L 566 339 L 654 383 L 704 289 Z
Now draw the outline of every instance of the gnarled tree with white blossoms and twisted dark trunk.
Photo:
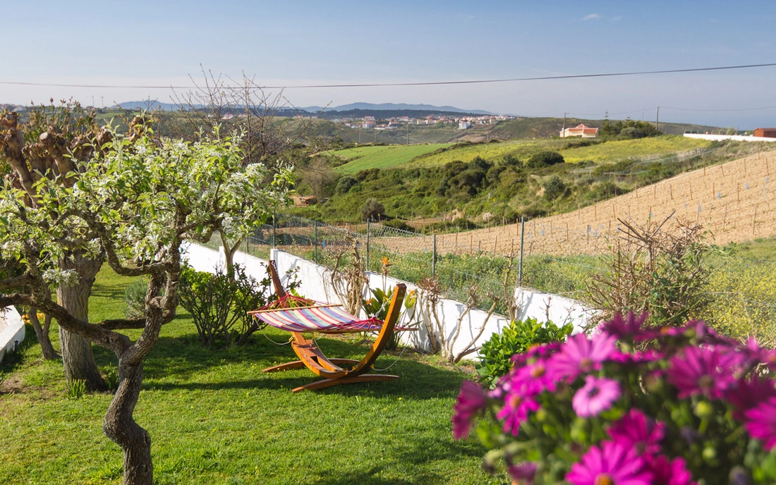
M 241 150 L 226 137 L 190 144 L 158 140 L 140 124 L 131 138 L 110 130 L 105 138 L 88 158 L 71 154 L 67 170 L 39 173 L 25 188 L 6 180 L 0 189 L 0 256 L 25 268 L 0 281 L 0 307 L 39 307 L 67 331 L 116 354 L 120 383 L 102 428 L 123 449 L 124 483 L 150 485 L 151 436 L 134 421 L 133 410 L 144 356 L 161 326 L 175 317 L 182 247 L 210 239 L 214 230 L 247 234 L 286 203 L 289 171 L 244 166 Z M 234 211 L 246 202 L 245 210 Z M 93 323 L 51 301 L 50 287 L 79 281 L 78 272 L 60 264 L 74 258 L 72 251 L 84 258 L 104 255 L 120 275 L 144 275 L 144 317 Z M 140 338 L 131 341 L 120 332 L 126 328 L 141 328 Z

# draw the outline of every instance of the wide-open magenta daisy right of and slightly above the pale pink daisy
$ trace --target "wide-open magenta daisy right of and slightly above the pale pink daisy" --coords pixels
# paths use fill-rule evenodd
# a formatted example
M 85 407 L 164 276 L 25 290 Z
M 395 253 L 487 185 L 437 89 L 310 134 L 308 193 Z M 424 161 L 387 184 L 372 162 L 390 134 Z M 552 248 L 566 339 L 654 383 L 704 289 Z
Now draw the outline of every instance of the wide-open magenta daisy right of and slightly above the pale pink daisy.
M 668 380 L 679 390 L 680 399 L 697 394 L 719 399 L 735 385 L 734 372 L 741 361 L 741 355 L 727 349 L 688 346 L 670 359 Z

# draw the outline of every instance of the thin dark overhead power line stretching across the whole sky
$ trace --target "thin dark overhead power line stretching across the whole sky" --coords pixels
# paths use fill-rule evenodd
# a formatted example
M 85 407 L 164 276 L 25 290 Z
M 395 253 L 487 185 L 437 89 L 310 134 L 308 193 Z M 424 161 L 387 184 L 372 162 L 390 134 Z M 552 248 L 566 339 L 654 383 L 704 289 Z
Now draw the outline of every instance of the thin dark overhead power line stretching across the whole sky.
M 467 81 L 427 81 L 427 82 L 376 82 L 365 84 L 338 84 L 338 85 L 286 85 L 286 86 L 261 86 L 265 89 L 292 89 L 292 88 L 378 88 L 390 86 L 438 86 L 438 85 L 465 85 L 465 84 L 486 84 L 496 82 L 520 82 L 520 81 L 549 81 L 553 79 L 580 79 L 580 78 L 611 78 L 616 76 L 636 76 L 643 74 L 671 74 L 678 72 L 699 72 L 699 71 L 723 71 L 732 69 L 749 68 L 768 68 L 776 66 L 776 63 L 767 64 L 743 64 L 736 66 L 719 66 L 715 68 L 688 68 L 688 69 L 664 69 L 660 71 L 630 71 L 630 72 L 607 72 L 601 74 L 569 74 L 563 76 L 542 76 L 537 78 L 508 78 L 508 79 L 471 79 Z M 0 85 L 21 85 L 21 86 L 46 86 L 56 88 L 139 88 L 139 89 L 192 89 L 197 86 L 154 86 L 154 85 L 74 85 L 43 82 L 23 82 L 23 81 L 0 81 Z M 243 89 L 240 86 L 221 86 L 225 89 Z

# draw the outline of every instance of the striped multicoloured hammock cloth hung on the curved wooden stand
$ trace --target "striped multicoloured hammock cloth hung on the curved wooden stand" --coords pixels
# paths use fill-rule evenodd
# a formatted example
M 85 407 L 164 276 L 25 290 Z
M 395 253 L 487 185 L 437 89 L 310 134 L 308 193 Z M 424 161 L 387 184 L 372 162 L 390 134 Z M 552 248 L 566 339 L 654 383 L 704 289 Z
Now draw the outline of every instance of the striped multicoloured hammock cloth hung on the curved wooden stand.
M 341 305 L 315 303 L 299 296 L 286 295 L 264 307 L 249 312 L 265 324 L 289 332 L 320 332 L 322 334 L 347 334 L 379 331 L 383 320 L 376 317 L 366 320 L 348 314 Z M 394 327 L 395 331 L 410 330 Z

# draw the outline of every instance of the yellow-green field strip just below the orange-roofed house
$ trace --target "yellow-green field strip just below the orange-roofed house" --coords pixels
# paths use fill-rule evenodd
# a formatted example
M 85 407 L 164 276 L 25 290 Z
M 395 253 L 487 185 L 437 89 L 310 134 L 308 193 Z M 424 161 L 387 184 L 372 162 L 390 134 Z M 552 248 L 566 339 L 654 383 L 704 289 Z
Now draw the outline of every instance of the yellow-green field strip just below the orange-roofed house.
M 611 163 L 625 158 L 647 158 L 705 148 L 711 144 L 708 140 L 685 138 L 679 135 L 641 138 L 639 140 L 608 141 L 590 147 L 567 148 L 560 151 L 567 163 L 594 161 Z

